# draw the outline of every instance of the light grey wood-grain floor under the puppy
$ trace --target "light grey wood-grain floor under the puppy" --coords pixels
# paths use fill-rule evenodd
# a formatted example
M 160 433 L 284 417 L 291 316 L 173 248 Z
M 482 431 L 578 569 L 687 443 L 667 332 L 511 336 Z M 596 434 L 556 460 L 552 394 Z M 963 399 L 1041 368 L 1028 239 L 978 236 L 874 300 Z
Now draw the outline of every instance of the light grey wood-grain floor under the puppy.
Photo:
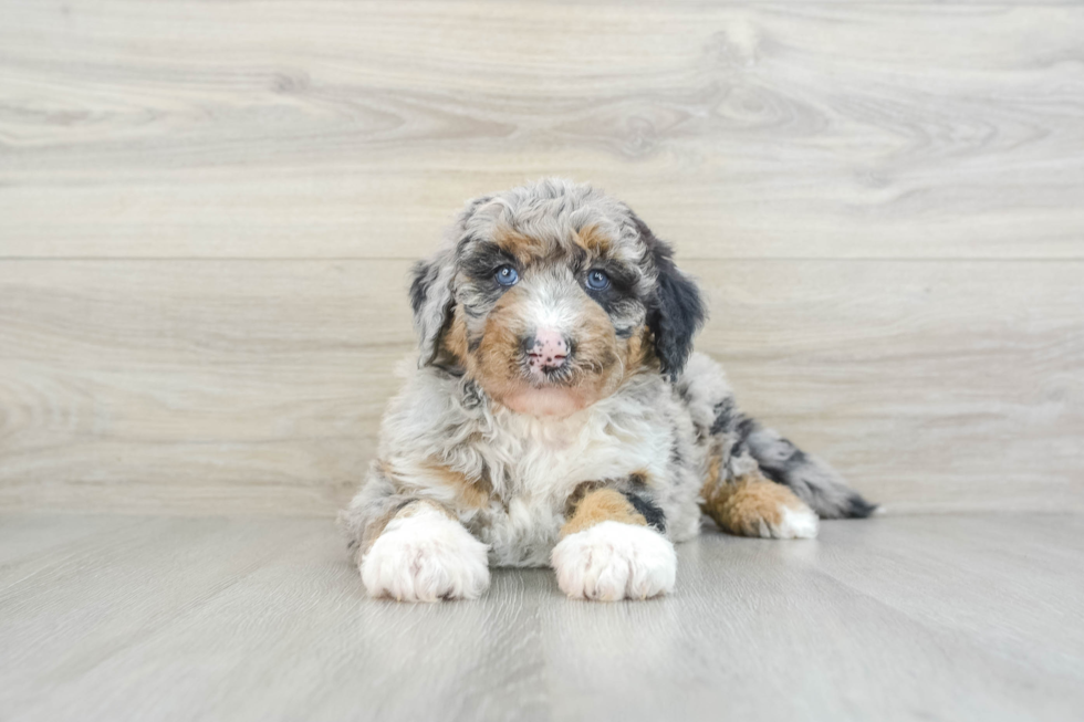
M 570 601 L 546 569 L 499 571 L 472 603 L 369 600 L 322 520 L 0 517 L 15 527 L 13 721 L 1059 722 L 1084 705 L 1080 515 L 706 533 L 678 547 L 674 595 L 618 604 Z

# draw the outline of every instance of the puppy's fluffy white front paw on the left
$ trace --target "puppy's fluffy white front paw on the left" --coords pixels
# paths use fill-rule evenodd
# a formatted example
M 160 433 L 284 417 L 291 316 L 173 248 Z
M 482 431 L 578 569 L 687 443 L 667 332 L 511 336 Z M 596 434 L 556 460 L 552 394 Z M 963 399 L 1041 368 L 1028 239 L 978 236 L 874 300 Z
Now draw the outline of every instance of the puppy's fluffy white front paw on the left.
M 394 519 L 362 558 L 365 589 L 399 601 L 475 599 L 489 586 L 489 547 L 436 509 Z

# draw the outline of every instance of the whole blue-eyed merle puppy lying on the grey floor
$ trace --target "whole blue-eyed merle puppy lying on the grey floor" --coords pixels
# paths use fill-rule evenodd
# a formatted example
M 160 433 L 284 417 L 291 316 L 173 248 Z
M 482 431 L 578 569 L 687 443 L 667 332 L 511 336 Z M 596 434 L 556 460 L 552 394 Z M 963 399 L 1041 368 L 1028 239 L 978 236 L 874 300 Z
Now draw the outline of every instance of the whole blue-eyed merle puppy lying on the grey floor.
M 624 203 L 548 179 L 484 196 L 414 270 L 417 372 L 342 513 L 374 597 L 475 598 L 489 567 L 551 565 L 573 598 L 674 588 L 701 512 L 812 538 L 874 506 L 742 415 L 692 354 L 696 283 Z

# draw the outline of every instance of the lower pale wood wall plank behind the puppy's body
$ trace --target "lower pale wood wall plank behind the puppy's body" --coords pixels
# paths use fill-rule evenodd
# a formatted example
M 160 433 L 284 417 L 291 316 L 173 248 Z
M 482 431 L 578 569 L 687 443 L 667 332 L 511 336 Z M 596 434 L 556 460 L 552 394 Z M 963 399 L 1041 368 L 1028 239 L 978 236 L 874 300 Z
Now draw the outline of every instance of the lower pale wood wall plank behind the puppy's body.
M 692 268 L 743 408 L 871 499 L 1084 510 L 1081 262 Z M 407 269 L 0 264 L 0 505 L 332 513 L 409 364 Z

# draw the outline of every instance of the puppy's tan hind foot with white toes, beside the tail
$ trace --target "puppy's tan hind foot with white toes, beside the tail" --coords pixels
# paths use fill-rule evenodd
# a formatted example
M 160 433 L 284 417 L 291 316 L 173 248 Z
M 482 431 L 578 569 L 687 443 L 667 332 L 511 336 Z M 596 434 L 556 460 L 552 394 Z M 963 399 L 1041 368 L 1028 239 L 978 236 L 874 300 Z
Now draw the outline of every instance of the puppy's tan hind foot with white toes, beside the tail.
M 817 516 L 782 484 L 749 473 L 705 484 L 701 506 L 723 531 L 765 538 L 813 538 Z

